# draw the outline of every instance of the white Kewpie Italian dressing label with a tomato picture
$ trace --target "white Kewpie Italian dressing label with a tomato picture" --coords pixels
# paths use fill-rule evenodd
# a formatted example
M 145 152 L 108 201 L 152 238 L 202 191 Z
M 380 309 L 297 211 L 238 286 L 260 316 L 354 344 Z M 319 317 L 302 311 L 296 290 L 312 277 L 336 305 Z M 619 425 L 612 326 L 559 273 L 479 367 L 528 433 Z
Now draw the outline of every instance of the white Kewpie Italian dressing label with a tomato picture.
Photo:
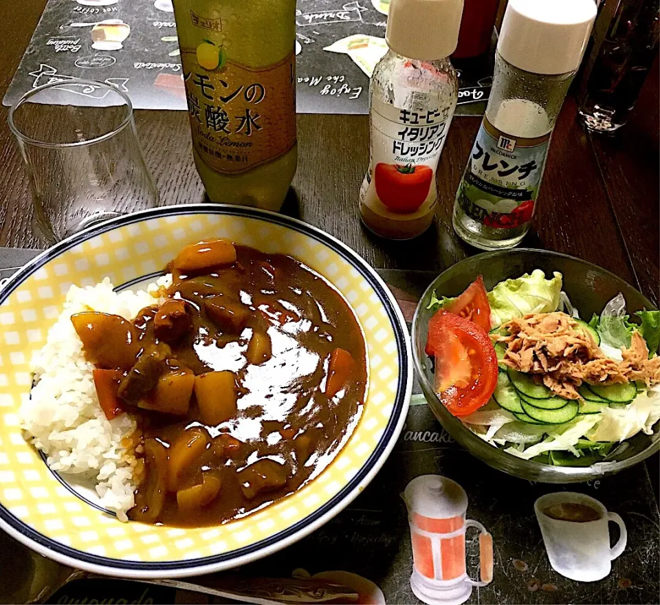
M 429 107 L 416 93 L 412 107 Z M 423 98 L 421 98 L 423 97 Z M 447 131 L 450 109 L 399 109 L 371 101 L 371 166 L 360 201 L 394 221 L 426 216 L 437 202 L 435 170 Z

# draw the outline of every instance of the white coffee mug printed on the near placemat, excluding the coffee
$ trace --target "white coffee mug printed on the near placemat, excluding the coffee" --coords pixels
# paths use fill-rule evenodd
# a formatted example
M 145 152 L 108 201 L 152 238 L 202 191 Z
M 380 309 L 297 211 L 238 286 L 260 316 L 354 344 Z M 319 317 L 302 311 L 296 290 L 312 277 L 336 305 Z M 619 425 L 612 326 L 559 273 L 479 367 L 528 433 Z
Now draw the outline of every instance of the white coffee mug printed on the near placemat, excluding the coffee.
M 598 518 L 593 521 L 569 521 L 545 514 L 548 507 L 563 503 L 586 505 L 596 511 Z M 602 580 L 610 573 L 612 560 L 626 548 L 628 532 L 624 521 L 591 496 L 578 492 L 546 494 L 536 500 L 534 511 L 552 569 L 571 580 Z M 613 547 L 610 547 L 610 522 L 615 522 L 621 533 Z

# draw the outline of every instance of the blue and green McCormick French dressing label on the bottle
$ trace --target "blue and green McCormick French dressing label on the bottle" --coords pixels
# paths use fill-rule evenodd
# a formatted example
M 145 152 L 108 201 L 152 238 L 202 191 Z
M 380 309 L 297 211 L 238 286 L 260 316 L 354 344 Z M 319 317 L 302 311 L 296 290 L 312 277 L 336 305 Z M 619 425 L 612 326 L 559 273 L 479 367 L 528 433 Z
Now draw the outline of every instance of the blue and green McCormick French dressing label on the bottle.
M 550 135 L 514 137 L 496 129 L 484 116 L 456 193 L 463 212 L 488 227 L 529 223 Z

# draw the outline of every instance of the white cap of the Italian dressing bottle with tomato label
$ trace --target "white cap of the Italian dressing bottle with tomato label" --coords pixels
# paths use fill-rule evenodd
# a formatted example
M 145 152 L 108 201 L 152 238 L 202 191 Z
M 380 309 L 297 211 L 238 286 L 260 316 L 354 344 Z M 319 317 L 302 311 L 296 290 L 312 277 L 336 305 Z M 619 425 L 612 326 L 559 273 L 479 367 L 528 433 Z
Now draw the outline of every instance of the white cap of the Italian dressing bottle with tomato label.
M 450 56 L 459 43 L 463 0 L 391 0 L 385 41 L 419 61 Z

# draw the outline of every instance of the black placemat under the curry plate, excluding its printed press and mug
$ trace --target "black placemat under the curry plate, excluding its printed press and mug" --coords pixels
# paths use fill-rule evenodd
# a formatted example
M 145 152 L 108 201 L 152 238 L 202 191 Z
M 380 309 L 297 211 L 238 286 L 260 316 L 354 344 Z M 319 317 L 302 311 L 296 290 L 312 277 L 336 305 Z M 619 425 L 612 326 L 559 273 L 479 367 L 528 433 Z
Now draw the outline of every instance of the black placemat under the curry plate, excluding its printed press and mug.
M 7 278 L 37 252 L 0 249 L 0 279 Z M 397 270 L 380 270 L 379 274 L 391 287 L 410 322 L 417 298 L 435 275 Z M 412 545 L 401 492 L 415 477 L 441 474 L 465 489 L 467 517 L 483 524 L 494 542 L 493 581 L 488 586 L 474 588 L 467 603 L 657 601 L 660 525 L 646 464 L 583 484 L 562 486 L 523 481 L 474 459 L 439 425 L 419 386 L 415 386 L 413 393 L 406 426 L 395 450 L 350 507 L 292 547 L 217 578 L 206 576 L 187 582 L 212 584 L 228 575 L 252 583 L 263 582 L 264 578 L 316 578 L 351 586 L 360 593 L 361 603 L 417 604 L 420 601 L 410 587 Z M 533 503 L 542 494 L 556 491 L 581 492 L 596 498 L 623 518 L 628 529 L 628 544 L 621 556 L 612 562 L 612 570 L 603 580 L 576 582 L 551 569 Z M 612 535 L 616 538 L 614 531 Z M 14 570 L 11 575 L 5 574 L 10 577 L 0 579 L 0 600 L 4 602 L 23 602 L 28 593 L 34 591 L 34 584 L 53 582 L 54 577 L 66 575 L 67 570 L 30 553 L 5 534 L 0 536 L 0 545 L 0 565 L 4 561 Z M 467 534 L 466 554 L 467 573 L 477 577 L 476 531 L 470 530 Z M 48 602 L 234 602 L 190 592 L 188 588 L 187 584 L 181 587 L 176 581 L 168 586 L 153 586 L 117 580 L 78 580 L 63 586 Z

